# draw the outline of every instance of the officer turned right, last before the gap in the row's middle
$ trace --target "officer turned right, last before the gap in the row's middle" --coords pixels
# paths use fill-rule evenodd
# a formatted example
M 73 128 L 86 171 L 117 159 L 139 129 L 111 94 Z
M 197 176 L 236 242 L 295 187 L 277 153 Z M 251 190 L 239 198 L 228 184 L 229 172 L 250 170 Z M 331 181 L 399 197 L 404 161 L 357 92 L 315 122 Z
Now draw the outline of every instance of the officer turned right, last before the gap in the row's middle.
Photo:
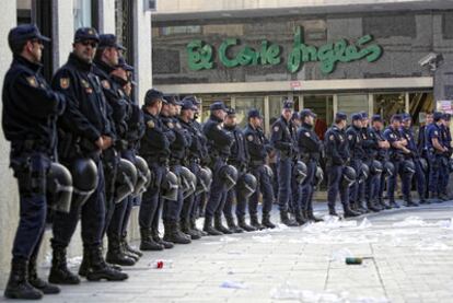
M 298 144 L 301 159 L 306 165 L 306 177 L 302 182 L 301 206 L 302 217 L 312 222 L 320 222 L 322 219 L 313 214 L 313 195 L 315 190 L 315 176 L 317 163 L 323 151 L 323 142 L 313 129 L 316 114 L 305 108 L 300 113 L 302 126 L 298 131 Z

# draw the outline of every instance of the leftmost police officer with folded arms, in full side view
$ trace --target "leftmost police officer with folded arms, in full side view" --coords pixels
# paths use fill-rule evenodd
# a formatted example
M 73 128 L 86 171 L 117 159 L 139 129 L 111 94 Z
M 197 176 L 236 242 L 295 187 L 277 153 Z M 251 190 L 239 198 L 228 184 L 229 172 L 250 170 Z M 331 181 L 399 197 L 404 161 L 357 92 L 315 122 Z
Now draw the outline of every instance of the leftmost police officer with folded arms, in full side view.
M 3 82 L 2 128 L 11 142 L 10 166 L 18 179 L 21 210 L 4 290 L 9 299 L 40 299 L 43 293 L 60 292 L 36 272 L 46 222 L 46 174 L 56 142 L 55 120 L 66 107 L 65 96 L 54 92 L 40 73 L 44 43 L 49 40 L 30 24 L 12 28 L 8 35 L 13 61 Z

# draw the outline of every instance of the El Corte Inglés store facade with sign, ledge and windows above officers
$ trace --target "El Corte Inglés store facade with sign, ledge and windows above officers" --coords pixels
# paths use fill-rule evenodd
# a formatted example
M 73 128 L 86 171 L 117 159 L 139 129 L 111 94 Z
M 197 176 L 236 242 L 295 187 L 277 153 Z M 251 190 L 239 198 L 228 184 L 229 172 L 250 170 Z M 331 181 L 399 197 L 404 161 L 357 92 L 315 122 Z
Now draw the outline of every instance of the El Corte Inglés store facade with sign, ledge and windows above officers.
M 247 109 L 259 108 L 266 131 L 287 97 L 318 114 L 320 133 L 339 110 L 385 118 L 408 112 L 418 125 L 437 100 L 453 98 L 443 88 L 434 97 L 435 81 L 446 85 L 453 59 L 451 10 L 267 13 L 185 21 L 158 15 L 153 85 L 197 95 L 202 120 L 216 100 L 235 107 L 242 124 Z M 442 69 L 419 63 L 430 53 L 442 55 Z

